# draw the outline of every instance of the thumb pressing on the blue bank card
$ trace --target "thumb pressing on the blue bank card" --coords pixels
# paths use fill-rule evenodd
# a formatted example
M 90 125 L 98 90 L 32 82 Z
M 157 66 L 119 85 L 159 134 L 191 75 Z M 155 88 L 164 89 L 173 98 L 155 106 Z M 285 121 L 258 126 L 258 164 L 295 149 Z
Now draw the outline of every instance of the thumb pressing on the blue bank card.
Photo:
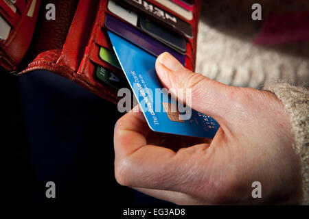
M 211 116 L 218 123 L 222 123 L 223 119 L 226 120 L 226 116 L 231 111 L 232 103 L 228 96 L 233 87 L 193 73 L 170 53 L 159 55 L 156 70 L 161 83 L 170 90 L 172 96 L 183 101 L 192 109 Z M 190 98 L 190 95 L 187 95 L 187 92 L 190 92 L 188 89 L 191 89 L 191 100 L 187 100 Z

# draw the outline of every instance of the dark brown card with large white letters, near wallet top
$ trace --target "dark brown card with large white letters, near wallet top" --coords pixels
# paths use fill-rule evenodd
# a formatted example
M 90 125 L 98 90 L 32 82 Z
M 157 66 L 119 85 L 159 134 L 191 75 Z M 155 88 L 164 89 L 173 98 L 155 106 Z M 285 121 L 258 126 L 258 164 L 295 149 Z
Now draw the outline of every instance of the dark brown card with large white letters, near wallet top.
M 155 21 L 162 23 L 167 27 L 171 27 L 174 31 L 187 38 L 193 38 L 193 29 L 189 23 L 153 5 L 152 3 L 149 3 L 148 1 L 123 0 L 118 2 L 128 3 L 131 5 L 131 8 L 135 8 L 142 14 L 146 14 L 147 17 L 155 19 Z

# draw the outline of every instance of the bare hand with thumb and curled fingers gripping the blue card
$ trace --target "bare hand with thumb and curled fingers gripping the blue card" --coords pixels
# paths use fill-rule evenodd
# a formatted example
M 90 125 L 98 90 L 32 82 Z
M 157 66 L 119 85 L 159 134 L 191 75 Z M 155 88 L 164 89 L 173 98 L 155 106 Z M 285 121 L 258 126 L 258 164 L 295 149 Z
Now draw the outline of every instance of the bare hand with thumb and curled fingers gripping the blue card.
M 299 203 L 299 159 L 275 94 L 192 73 L 169 53 L 158 57 L 156 70 L 165 88 L 191 88 L 190 107 L 220 129 L 213 140 L 155 133 L 131 110 L 115 125 L 119 184 L 179 205 Z M 262 183 L 262 198 L 251 196 L 253 181 Z

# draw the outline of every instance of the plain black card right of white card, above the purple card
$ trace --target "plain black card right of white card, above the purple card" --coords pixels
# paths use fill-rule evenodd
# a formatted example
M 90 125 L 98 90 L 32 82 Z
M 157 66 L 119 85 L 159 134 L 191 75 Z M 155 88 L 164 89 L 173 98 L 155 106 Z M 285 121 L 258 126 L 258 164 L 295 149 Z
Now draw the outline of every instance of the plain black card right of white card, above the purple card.
M 150 36 L 153 36 L 161 42 L 163 41 L 163 43 L 168 44 L 176 51 L 185 55 L 187 51 L 187 41 L 182 36 L 166 31 L 163 27 L 142 16 L 139 18 L 139 26 Z

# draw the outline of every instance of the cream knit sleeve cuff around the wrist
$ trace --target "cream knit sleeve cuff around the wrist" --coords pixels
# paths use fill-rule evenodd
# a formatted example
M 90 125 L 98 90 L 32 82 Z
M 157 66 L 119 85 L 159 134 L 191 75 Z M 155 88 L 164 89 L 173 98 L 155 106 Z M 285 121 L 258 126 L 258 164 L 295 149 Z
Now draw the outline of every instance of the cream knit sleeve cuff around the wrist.
M 273 83 L 264 86 L 273 92 L 286 107 L 295 136 L 294 149 L 301 161 L 304 205 L 309 205 L 309 91 L 290 86 L 288 83 Z

